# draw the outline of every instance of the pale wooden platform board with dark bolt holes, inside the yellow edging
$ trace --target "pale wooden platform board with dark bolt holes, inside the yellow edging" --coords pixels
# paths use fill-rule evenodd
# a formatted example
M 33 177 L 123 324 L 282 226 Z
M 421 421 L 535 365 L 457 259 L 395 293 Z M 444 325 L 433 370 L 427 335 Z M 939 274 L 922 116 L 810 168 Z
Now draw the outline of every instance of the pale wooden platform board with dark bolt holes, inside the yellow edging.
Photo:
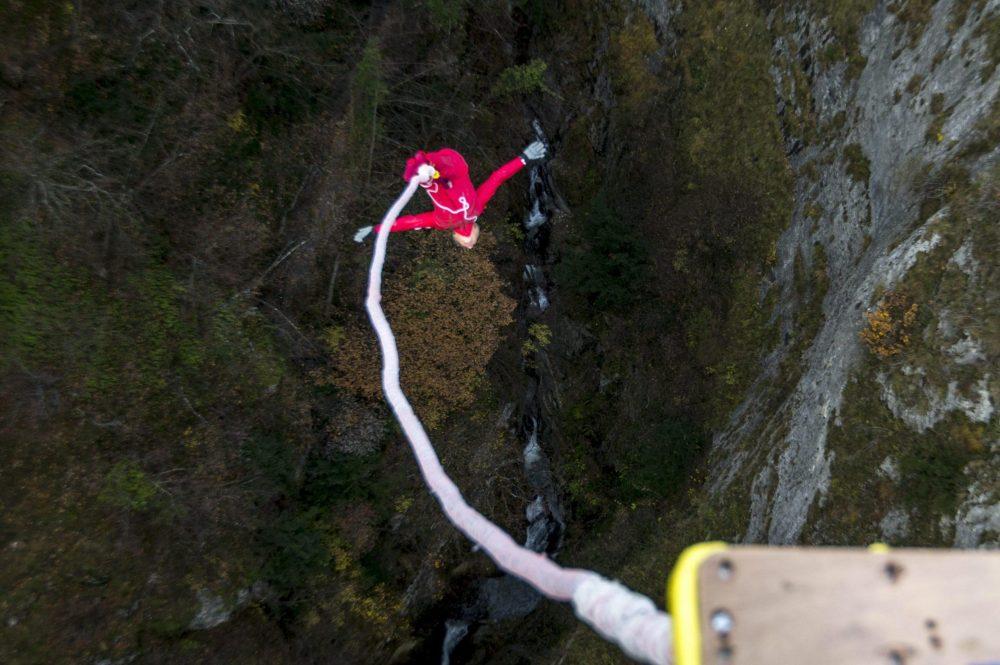
M 705 665 L 1000 665 L 1000 553 L 734 547 L 697 570 Z

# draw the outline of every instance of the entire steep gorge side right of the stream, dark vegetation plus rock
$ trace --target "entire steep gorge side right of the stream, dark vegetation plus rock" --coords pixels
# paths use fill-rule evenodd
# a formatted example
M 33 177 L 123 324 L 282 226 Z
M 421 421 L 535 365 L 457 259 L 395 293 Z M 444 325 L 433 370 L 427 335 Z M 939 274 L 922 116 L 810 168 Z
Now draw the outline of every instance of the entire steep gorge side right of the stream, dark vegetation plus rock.
M 557 164 L 575 214 L 557 220 L 554 246 L 586 228 L 588 187 L 608 187 L 622 219 L 648 215 L 654 286 L 593 316 L 574 304 L 573 276 L 554 273 L 564 556 L 659 597 L 677 553 L 705 539 L 996 547 L 997 3 L 643 2 L 623 13 L 581 49 L 590 95 L 569 104 L 562 155 L 582 173 Z M 727 39 L 731 25 L 742 40 Z M 772 91 L 766 105 L 750 101 L 755 74 Z M 729 109 L 748 106 L 756 123 Z M 792 174 L 787 216 L 773 246 L 747 249 L 735 273 L 745 282 L 720 277 L 727 245 L 711 234 L 720 217 L 752 223 L 730 203 L 752 198 L 738 181 L 700 178 L 688 155 L 733 154 L 716 138 L 731 135 L 752 146 L 749 164 L 780 173 L 769 119 Z M 702 190 L 714 199 L 691 215 L 685 196 Z M 767 191 L 780 200 L 780 187 Z M 640 203 L 623 210 L 631 197 Z M 585 301 L 601 293 L 592 284 Z M 678 412 L 711 433 L 704 459 L 664 423 Z M 556 626 L 551 662 L 619 661 L 556 613 L 519 634 Z

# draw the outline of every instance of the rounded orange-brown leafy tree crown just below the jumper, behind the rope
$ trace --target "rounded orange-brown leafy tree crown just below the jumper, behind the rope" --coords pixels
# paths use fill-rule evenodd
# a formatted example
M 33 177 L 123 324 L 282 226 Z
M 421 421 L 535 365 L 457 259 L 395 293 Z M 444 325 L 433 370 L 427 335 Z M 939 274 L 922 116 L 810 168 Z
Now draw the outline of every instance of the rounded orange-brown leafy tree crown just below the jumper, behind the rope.
M 516 303 L 489 259 L 496 240 L 484 232 L 474 250 L 444 233 L 407 233 L 416 260 L 382 287 L 382 306 L 399 346 L 403 390 L 428 427 L 475 399 L 486 363 L 500 344 Z M 367 320 L 348 324 L 331 345 L 333 363 L 322 381 L 369 399 L 381 399 L 381 356 Z

